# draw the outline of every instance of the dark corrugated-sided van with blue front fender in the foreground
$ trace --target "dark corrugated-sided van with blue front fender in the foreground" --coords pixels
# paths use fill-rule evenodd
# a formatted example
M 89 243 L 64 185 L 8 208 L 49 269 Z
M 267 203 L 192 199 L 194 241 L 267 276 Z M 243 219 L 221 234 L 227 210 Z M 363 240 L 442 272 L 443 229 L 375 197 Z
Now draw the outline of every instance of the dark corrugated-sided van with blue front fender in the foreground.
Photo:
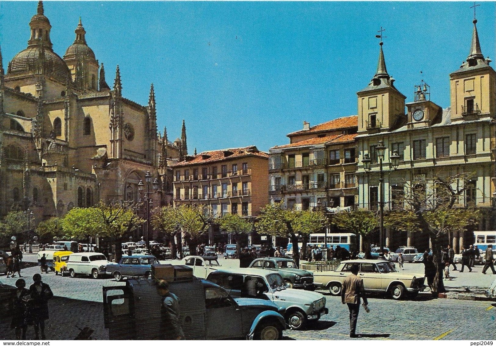
M 185 340 L 280 340 L 286 329 L 279 308 L 271 301 L 234 298 L 224 288 L 194 277 L 169 282 L 169 290 L 179 298 Z M 104 323 L 110 340 L 163 340 L 162 299 L 151 279 L 103 287 Z

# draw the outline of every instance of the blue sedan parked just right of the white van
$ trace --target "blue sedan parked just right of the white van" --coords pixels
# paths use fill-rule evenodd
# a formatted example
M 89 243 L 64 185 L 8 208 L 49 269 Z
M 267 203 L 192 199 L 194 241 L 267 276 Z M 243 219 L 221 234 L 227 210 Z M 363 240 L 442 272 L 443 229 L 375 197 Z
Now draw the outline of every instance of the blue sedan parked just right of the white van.
M 123 278 L 151 278 L 152 264 L 160 264 L 155 256 L 124 256 L 119 263 L 108 264 L 106 273 L 112 275 L 116 281 Z

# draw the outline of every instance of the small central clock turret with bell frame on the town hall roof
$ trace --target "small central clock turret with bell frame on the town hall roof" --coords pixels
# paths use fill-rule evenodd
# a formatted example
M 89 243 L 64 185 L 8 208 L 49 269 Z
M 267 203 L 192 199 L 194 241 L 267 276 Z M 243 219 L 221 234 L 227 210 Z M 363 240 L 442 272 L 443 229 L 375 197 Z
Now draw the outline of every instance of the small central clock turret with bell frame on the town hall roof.
M 442 108 L 430 100 L 430 90 L 424 81 L 415 86 L 415 101 L 406 104 L 408 128 L 430 126 L 441 121 Z

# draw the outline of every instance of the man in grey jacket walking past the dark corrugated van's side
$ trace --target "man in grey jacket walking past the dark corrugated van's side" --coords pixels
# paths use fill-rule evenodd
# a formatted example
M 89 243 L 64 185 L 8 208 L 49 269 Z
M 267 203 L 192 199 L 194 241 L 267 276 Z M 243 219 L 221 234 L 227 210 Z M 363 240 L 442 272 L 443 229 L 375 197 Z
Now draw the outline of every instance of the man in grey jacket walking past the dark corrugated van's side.
M 182 340 L 185 335 L 179 321 L 179 298 L 169 291 L 169 284 L 160 280 L 157 284 L 157 292 L 163 297 L 161 305 L 161 331 L 164 340 Z

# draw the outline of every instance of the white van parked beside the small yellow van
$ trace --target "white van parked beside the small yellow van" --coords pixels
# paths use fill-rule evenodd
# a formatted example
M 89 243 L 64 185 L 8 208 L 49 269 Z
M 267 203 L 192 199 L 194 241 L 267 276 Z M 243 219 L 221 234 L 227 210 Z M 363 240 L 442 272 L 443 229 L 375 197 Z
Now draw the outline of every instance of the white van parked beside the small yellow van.
M 69 255 L 66 263 L 66 270 L 69 272 L 71 278 L 79 274 L 84 274 L 89 275 L 93 279 L 97 279 L 99 275 L 107 274 L 107 265 L 112 264 L 100 252 L 72 253 Z

